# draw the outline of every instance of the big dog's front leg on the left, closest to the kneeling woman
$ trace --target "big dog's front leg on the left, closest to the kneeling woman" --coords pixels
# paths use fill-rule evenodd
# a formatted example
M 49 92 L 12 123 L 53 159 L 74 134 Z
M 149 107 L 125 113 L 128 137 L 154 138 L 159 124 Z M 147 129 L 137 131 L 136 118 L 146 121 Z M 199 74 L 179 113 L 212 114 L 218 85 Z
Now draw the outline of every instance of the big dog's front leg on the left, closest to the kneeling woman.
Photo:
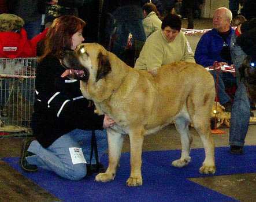
M 109 182 L 116 176 L 117 166 L 121 156 L 124 135 L 113 129 L 107 129 L 107 142 L 109 144 L 109 166 L 105 173 L 99 173 L 95 177 L 97 182 Z

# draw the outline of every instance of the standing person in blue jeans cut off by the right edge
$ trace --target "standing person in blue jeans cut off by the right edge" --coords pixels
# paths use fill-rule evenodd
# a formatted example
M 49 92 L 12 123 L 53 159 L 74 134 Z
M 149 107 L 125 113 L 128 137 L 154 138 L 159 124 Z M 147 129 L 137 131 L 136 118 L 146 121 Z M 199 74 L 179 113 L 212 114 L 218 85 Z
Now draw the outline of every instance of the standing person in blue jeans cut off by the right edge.
M 250 121 L 250 102 L 255 102 L 250 96 L 250 78 L 244 71 L 248 60 L 256 62 L 256 18 L 245 21 L 236 28 L 231 43 L 231 57 L 236 69 L 237 84 L 235 98 L 231 110 L 231 127 L 229 129 L 229 145 L 231 154 L 243 154 L 243 145 Z M 252 68 L 254 70 L 254 68 Z M 255 71 L 255 70 L 254 70 Z M 253 71 L 253 72 L 254 72 Z M 254 73 L 252 74 L 254 75 Z M 254 80 L 254 78 L 253 78 Z M 254 82 L 254 81 L 253 81 Z M 248 85 L 249 83 L 249 85 Z

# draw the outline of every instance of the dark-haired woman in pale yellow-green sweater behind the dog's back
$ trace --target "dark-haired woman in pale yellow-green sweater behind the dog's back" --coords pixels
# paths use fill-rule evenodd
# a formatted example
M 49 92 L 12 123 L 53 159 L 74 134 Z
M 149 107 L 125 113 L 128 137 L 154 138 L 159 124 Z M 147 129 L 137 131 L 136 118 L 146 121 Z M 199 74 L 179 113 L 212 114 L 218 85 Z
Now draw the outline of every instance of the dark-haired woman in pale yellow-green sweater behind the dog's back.
M 168 14 L 162 21 L 161 29 L 147 38 L 135 69 L 157 73 L 162 65 L 172 62 L 195 62 L 194 53 L 183 32 L 180 32 L 181 20 L 176 14 Z

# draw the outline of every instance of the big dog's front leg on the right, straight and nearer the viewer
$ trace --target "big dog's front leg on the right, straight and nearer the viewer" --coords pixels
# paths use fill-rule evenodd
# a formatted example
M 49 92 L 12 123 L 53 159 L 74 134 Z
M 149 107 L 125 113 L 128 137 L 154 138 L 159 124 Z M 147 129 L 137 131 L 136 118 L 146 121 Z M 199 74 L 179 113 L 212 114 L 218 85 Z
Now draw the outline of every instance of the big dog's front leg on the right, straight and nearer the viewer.
M 127 179 L 128 186 L 142 185 L 142 145 L 144 140 L 144 130 L 131 130 L 129 133 L 131 145 L 131 175 Z

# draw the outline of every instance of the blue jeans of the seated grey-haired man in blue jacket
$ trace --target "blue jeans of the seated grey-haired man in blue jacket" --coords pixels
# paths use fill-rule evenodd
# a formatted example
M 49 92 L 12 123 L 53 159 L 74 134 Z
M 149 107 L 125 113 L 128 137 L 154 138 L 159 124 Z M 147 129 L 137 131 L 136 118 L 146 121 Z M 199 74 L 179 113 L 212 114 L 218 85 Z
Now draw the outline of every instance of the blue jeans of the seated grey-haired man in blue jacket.
M 233 77 L 231 73 L 219 72 L 218 73 L 218 83 L 216 81 L 217 72 L 216 70 L 210 71 L 213 75 L 214 82 L 217 84 L 218 88 L 218 98 L 220 99 L 220 104 L 223 105 L 230 100 L 229 95 L 225 92 L 225 86 L 227 85 L 235 85 L 236 84 L 236 77 Z

